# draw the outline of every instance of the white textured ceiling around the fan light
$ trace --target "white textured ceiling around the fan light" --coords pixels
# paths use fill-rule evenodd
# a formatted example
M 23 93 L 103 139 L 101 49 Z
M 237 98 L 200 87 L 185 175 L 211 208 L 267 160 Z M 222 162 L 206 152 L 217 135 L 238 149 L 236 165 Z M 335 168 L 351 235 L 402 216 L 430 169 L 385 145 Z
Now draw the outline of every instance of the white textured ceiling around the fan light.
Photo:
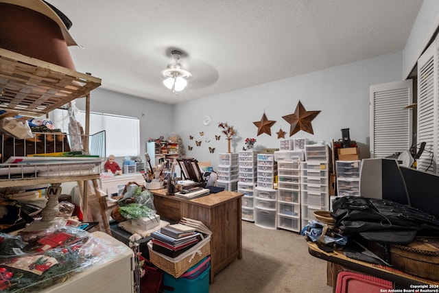
M 47 0 L 73 22 L 75 67 L 174 104 L 404 49 L 422 0 Z M 174 95 L 171 49 L 193 74 Z

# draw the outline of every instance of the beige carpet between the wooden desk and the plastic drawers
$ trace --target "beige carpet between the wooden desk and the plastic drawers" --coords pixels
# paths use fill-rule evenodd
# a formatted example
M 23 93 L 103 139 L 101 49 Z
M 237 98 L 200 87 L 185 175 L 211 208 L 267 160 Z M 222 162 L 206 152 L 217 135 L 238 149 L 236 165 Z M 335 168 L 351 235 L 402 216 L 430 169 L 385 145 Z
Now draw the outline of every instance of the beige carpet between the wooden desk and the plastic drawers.
M 332 293 L 327 261 L 308 253 L 305 237 L 242 221 L 242 259 L 215 276 L 209 293 Z

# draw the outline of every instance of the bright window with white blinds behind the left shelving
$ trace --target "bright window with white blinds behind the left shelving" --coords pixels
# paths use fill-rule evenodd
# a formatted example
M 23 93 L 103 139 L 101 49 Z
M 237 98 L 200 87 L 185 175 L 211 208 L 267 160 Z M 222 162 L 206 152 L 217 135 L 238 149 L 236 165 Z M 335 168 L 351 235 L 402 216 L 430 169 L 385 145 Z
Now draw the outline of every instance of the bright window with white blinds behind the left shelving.
M 56 109 L 51 113 L 55 128 L 69 132 L 67 110 Z M 85 126 L 85 111 L 78 110 L 75 118 Z M 139 119 L 105 113 L 90 113 L 90 134 L 106 131 L 106 154 L 115 156 L 139 156 L 140 131 Z

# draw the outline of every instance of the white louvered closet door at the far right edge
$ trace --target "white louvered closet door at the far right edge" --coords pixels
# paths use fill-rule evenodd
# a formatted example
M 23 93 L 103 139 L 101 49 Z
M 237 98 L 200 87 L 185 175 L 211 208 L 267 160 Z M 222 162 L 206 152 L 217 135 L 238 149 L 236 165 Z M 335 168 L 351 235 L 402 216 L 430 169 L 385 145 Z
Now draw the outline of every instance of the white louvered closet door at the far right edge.
M 438 159 L 438 40 L 418 59 L 418 120 L 417 141 L 425 142 L 418 159 L 418 169 L 437 172 Z

